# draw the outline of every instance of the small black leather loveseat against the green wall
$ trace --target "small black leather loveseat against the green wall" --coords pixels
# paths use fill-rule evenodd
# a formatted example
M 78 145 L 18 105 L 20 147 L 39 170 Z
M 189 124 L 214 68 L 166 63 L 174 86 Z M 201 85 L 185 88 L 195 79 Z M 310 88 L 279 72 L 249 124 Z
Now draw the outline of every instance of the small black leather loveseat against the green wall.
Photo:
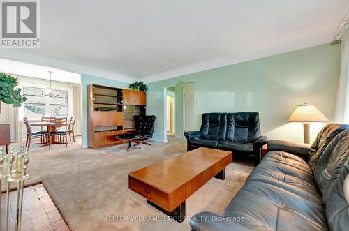
M 260 151 L 267 137 L 260 133 L 258 112 L 205 113 L 202 114 L 200 131 L 184 133 L 187 149 L 209 147 L 234 151 L 234 154 L 254 156 L 260 162 Z

